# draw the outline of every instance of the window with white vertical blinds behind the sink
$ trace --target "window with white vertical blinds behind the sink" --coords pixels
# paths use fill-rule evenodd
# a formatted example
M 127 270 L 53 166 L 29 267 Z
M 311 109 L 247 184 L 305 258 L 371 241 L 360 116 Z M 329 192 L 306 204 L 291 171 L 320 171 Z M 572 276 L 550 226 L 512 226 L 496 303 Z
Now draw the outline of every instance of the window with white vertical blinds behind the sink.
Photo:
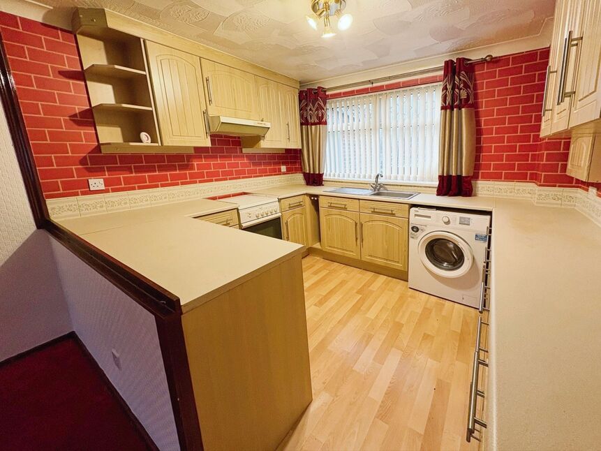
M 436 182 L 441 86 L 327 101 L 325 177 Z

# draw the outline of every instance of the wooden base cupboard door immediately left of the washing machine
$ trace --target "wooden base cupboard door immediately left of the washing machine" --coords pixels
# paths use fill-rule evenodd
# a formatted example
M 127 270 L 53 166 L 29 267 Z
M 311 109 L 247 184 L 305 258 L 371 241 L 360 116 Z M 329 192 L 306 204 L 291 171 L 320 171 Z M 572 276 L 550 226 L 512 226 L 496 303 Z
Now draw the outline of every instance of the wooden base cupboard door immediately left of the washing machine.
M 361 214 L 361 260 L 407 270 L 408 219 Z

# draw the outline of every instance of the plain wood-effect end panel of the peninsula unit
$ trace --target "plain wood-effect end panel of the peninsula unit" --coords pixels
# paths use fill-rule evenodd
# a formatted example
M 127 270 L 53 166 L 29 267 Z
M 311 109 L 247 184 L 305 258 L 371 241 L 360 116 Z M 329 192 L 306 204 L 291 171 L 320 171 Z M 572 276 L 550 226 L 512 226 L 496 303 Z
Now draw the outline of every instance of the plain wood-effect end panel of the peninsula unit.
M 301 256 L 181 316 L 202 448 L 275 450 L 311 403 Z

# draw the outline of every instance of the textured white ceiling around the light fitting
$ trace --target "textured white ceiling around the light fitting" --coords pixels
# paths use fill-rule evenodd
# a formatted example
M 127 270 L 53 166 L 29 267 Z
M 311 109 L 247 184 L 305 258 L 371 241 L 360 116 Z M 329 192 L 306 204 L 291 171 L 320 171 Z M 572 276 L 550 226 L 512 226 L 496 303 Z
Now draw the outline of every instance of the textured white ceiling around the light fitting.
M 301 82 L 536 36 L 555 0 L 348 0 L 353 26 L 328 40 L 310 0 L 38 0 L 107 8 Z

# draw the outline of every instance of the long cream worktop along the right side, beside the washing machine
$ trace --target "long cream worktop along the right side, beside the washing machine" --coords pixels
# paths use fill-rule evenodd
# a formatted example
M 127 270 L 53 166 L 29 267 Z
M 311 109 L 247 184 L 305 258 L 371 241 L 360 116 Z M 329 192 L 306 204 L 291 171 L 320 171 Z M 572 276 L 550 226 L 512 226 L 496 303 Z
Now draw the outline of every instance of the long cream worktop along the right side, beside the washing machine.
M 491 449 L 600 449 L 600 256 L 598 225 L 576 210 L 497 200 Z

